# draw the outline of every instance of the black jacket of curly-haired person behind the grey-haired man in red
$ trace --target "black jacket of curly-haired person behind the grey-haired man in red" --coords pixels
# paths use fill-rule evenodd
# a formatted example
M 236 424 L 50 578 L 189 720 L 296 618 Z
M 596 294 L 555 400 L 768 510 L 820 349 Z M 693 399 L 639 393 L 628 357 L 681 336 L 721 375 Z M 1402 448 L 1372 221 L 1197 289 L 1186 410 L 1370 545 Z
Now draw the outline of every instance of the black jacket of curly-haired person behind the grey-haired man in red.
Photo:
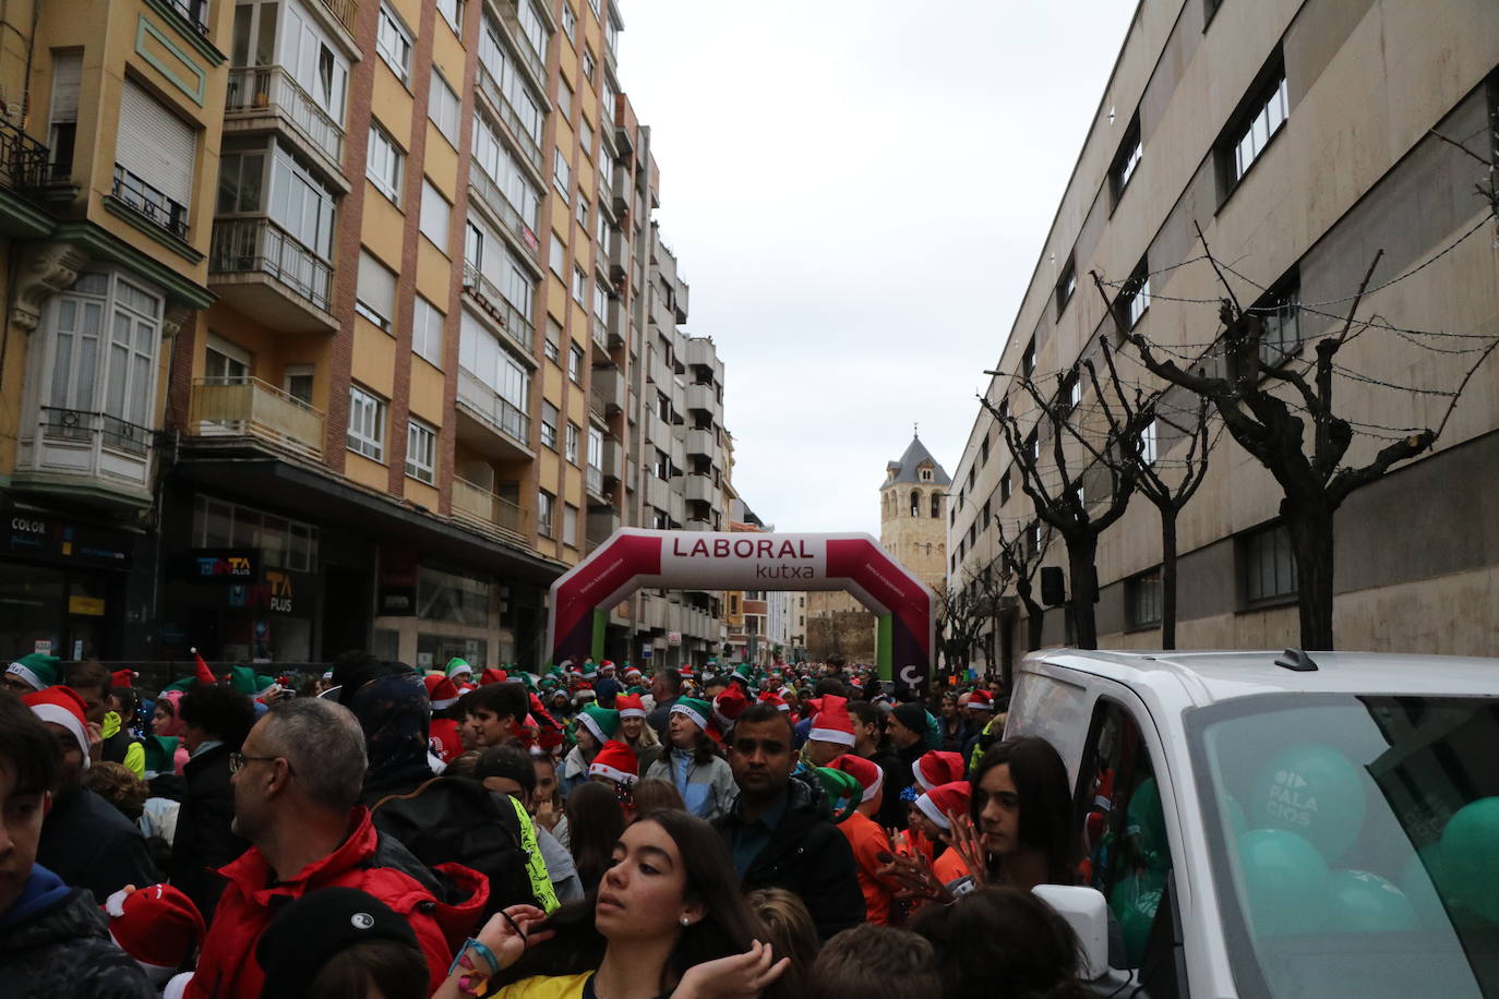
M 226 884 L 213 872 L 250 848 L 247 840 L 229 831 L 234 821 L 229 747 L 214 746 L 189 759 L 183 780 L 187 792 L 177 812 L 171 882 L 193 900 L 208 923 Z

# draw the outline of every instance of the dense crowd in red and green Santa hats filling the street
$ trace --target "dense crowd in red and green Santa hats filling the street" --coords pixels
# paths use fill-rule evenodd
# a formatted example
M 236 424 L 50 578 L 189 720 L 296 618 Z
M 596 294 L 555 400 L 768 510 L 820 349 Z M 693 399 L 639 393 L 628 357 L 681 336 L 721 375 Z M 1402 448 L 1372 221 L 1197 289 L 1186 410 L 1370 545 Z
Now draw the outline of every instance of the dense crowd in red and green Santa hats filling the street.
M 4 674 L 6 995 L 1082 995 L 1031 894 L 1078 878 L 1066 767 L 1003 740 L 986 684 L 366 655 L 300 690 L 135 680 Z

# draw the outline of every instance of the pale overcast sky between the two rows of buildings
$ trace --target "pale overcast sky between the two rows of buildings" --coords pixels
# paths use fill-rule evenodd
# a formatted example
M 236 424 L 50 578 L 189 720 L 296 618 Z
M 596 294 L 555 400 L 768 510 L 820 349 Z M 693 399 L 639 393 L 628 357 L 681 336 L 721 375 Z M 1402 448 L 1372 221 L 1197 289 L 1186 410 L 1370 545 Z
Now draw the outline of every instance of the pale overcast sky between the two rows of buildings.
M 685 330 L 778 530 L 878 535 L 914 422 L 953 472 L 1135 3 L 622 3 Z

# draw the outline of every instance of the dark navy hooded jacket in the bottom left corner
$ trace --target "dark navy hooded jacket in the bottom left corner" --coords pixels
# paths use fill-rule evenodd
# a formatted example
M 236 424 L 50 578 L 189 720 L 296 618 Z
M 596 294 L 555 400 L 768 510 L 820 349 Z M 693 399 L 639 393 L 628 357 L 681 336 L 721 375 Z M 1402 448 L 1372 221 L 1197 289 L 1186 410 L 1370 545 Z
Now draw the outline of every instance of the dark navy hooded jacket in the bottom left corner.
M 31 867 L 21 897 L 0 914 L 0 981 L 12 999 L 157 995 L 139 965 L 109 939 L 93 897 L 40 864 Z

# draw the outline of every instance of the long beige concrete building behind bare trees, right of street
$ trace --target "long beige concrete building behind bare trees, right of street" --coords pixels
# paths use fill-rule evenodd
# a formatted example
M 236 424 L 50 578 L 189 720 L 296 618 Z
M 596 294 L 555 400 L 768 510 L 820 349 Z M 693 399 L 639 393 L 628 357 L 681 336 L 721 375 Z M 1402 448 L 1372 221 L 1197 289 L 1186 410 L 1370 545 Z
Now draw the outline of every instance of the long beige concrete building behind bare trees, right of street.
M 1357 431 L 1348 461 L 1435 427 L 1444 392 L 1478 359 L 1471 347 L 1499 328 L 1493 205 L 1475 193 L 1496 156 L 1496 67 L 1493 10 L 1460 0 L 1144 0 L 1003 352 L 974 368 L 1048 376 L 1096 358 L 1100 335 L 1118 343 L 1088 277 L 1097 271 L 1121 325 L 1180 364 L 1219 370 L 1223 289 L 1207 261 L 1193 261 L 1199 225 L 1234 268 L 1235 295 L 1267 318 L 1264 349 L 1297 365 L 1336 333 L 1384 250 L 1358 309 L 1378 325 L 1339 353 L 1334 409 Z M 1133 347 L 1120 352 L 1126 379 L 1160 388 L 1130 359 Z M 1435 451 L 1357 491 L 1339 514 L 1342 647 L 1499 652 L 1499 548 L 1484 512 L 1499 454 L 1496 385 L 1490 358 Z M 1034 412 L 1009 376 L 986 391 L 995 406 Z M 1187 443 L 1157 425 L 1151 448 L 1169 467 Z M 994 566 L 997 520 L 1039 547 L 1019 470 L 982 409 L 952 494 L 950 586 Z M 1181 647 L 1298 641 L 1297 553 L 1280 499 L 1243 449 L 1226 437 L 1217 445 L 1178 526 Z M 1102 646 L 1159 644 L 1160 551 L 1156 509 L 1142 500 L 1102 536 Z M 1060 542 L 1045 563 L 1066 565 Z M 1001 610 L 994 659 L 1024 652 L 1022 617 Z M 1063 611 L 1049 611 L 1045 644 L 1066 640 Z

